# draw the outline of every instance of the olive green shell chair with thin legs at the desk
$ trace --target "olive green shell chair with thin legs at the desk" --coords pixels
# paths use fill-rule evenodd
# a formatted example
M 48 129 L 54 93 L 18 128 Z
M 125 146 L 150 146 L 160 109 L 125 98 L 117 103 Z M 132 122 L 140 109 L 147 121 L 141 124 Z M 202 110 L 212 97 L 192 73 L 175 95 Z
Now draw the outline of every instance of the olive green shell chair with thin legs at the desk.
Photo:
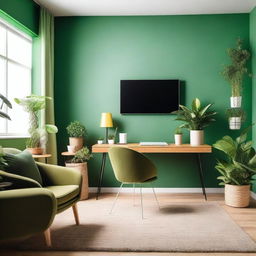
M 133 191 L 135 193 L 135 185 L 140 185 L 140 199 L 141 199 L 141 216 L 143 217 L 143 196 L 142 196 L 142 184 L 151 183 L 157 179 L 157 169 L 155 165 L 143 154 L 134 151 L 132 149 L 124 147 L 111 147 L 108 151 L 110 162 L 118 181 L 121 182 L 121 186 L 116 195 L 110 213 L 112 213 L 119 193 L 124 184 L 133 184 Z M 154 188 L 152 187 L 156 202 L 159 206 L 159 202 L 156 197 Z

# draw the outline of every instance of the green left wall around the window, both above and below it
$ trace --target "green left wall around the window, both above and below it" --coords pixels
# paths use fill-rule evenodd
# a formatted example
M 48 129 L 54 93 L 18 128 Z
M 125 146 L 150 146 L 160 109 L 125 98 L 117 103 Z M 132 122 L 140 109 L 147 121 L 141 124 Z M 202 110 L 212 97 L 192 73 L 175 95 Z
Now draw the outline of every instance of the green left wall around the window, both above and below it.
M 39 29 L 40 7 L 32 0 L 8 0 L 0 1 L 0 17 L 16 26 L 18 29 L 31 36 L 36 36 Z M 34 38 L 36 41 L 36 37 Z M 34 46 L 33 53 L 38 53 L 38 47 Z M 34 55 L 33 54 L 33 55 Z M 34 57 L 34 56 L 33 56 Z M 38 75 L 38 61 L 33 58 L 33 80 Z M 35 72 L 36 71 L 36 72 Z M 0 139 L 0 145 L 3 147 L 25 148 L 24 138 L 20 139 Z

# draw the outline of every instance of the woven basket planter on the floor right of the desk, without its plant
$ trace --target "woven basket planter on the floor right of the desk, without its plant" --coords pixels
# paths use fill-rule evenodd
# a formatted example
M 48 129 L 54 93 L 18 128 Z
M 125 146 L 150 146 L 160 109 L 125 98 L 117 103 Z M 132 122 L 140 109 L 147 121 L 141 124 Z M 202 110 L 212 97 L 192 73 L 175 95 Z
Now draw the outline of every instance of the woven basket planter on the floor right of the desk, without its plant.
M 232 207 L 247 207 L 250 202 L 250 185 L 225 184 L 225 204 Z

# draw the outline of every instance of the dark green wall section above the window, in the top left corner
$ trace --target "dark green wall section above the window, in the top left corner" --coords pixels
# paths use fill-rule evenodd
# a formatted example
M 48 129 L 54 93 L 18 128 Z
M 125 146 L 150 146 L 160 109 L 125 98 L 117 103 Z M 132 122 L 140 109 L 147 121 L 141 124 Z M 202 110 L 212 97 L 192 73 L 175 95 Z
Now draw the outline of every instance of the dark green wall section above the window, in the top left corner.
M 38 34 L 40 7 L 33 0 L 3 0 L 0 1 L 0 10 L 1 16 L 19 29 Z

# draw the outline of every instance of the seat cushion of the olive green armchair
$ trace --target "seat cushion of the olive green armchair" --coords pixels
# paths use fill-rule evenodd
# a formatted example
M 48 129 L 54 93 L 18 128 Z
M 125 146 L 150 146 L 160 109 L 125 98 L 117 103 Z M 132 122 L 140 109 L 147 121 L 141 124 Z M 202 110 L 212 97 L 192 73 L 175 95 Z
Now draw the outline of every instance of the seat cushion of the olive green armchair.
M 49 189 L 57 199 L 57 204 L 64 204 L 79 195 L 80 189 L 78 185 L 62 185 L 62 186 L 48 186 Z

